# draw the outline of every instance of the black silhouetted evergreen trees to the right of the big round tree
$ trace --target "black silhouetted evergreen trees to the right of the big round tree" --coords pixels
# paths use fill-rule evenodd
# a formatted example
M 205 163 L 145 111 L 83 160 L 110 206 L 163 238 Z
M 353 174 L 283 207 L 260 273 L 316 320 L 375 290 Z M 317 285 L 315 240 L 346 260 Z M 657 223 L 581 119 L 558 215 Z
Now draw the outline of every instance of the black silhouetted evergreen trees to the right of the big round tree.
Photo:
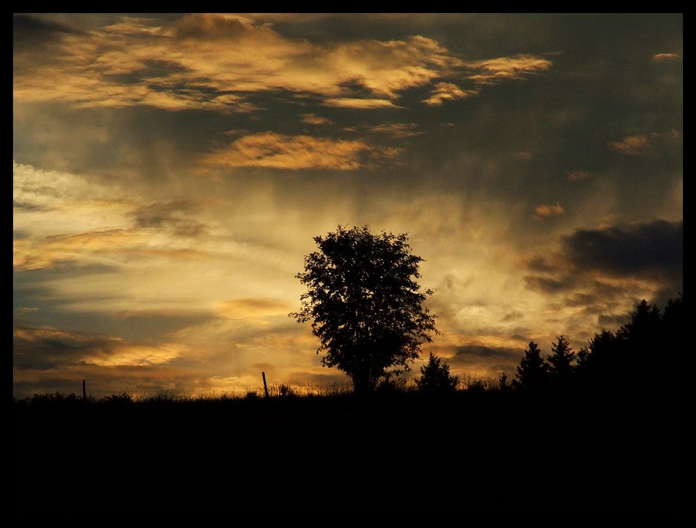
M 542 354 L 539 344 L 530 341 L 512 383 L 503 374 L 499 387 L 532 394 L 659 391 L 674 396 L 681 390 L 683 375 L 682 314 L 680 293 L 667 302 L 663 311 L 640 301 L 628 323 L 614 332 L 602 329 L 578 351 L 571 348 L 565 335 L 555 338 L 549 355 Z M 459 376 L 450 374 L 449 365 L 432 353 L 420 374 L 416 385 L 422 392 L 453 392 L 459 386 Z

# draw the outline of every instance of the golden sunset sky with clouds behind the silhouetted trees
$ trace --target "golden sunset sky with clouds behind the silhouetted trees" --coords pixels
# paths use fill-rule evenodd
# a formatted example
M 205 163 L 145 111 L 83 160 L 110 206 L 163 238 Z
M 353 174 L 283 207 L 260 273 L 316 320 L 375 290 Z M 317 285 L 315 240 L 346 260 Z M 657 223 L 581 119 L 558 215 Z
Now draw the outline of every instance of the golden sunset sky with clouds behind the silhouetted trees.
M 13 395 L 346 385 L 296 274 L 405 233 L 463 381 L 683 288 L 683 14 L 14 14 Z

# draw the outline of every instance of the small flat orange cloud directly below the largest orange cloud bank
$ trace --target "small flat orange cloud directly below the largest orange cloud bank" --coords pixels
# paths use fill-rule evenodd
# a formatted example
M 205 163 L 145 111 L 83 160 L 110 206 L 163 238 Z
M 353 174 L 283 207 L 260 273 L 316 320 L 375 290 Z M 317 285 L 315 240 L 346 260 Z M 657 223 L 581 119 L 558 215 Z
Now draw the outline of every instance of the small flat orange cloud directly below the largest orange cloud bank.
M 221 167 L 356 170 L 365 165 L 365 157 L 390 158 L 397 152 L 363 141 L 262 132 L 214 150 L 203 157 L 203 163 Z

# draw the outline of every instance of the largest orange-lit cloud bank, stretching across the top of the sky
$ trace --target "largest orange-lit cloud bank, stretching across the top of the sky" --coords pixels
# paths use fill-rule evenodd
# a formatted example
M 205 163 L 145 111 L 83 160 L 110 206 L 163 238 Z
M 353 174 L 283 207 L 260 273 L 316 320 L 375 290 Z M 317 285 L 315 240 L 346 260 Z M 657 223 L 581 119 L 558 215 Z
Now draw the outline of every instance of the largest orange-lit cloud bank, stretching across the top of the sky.
M 29 33 L 31 17 L 15 22 Z M 287 38 L 253 15 L 184 15 L 173 22 L 122 17 L 92 31 L 47 29 L 54 45 L 40 63 L 15 49 L 13 100 L 65 102 L 80 108 L 152 106 L 248 113 L 255 94 L 311 94 L 326 106 L 400 108 L 406 92 L 434 81 L 425 104 L 475 95 L 446 79 L 489 84 L 522 79 L 551 62 L 531 55 L 466 63 L 432 38 L 313 43 Z

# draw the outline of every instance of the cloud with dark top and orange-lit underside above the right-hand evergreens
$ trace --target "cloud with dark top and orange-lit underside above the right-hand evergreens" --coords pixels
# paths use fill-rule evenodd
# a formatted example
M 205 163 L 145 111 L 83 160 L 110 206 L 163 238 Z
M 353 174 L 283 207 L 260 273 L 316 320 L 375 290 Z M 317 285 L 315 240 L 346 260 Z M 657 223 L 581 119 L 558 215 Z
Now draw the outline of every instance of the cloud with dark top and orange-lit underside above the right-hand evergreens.
M 535 256 L 523 266 L 526 287 L 548 294 L 554 317 L 624 317 L 642 298 L 663 303 L 683 289 L 683 222 L 652 221 L 578 229 L 560 239 L 556 250 Z M 580 335 L 587 328 L 575 329 Z

